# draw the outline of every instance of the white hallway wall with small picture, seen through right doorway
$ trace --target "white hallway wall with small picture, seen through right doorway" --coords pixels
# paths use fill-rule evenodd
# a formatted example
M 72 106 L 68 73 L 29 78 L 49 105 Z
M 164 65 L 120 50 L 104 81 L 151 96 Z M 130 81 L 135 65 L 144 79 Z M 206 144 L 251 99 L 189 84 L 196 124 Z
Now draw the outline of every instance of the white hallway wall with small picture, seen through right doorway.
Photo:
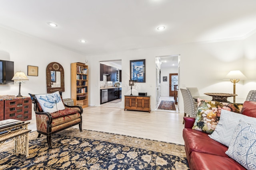
M 169 74 L 178 73 L 178 66 L 161 67 L 161 96 L 169 96 Z M 167 76 L 167 81 L 163 81 L 163 77 Z

